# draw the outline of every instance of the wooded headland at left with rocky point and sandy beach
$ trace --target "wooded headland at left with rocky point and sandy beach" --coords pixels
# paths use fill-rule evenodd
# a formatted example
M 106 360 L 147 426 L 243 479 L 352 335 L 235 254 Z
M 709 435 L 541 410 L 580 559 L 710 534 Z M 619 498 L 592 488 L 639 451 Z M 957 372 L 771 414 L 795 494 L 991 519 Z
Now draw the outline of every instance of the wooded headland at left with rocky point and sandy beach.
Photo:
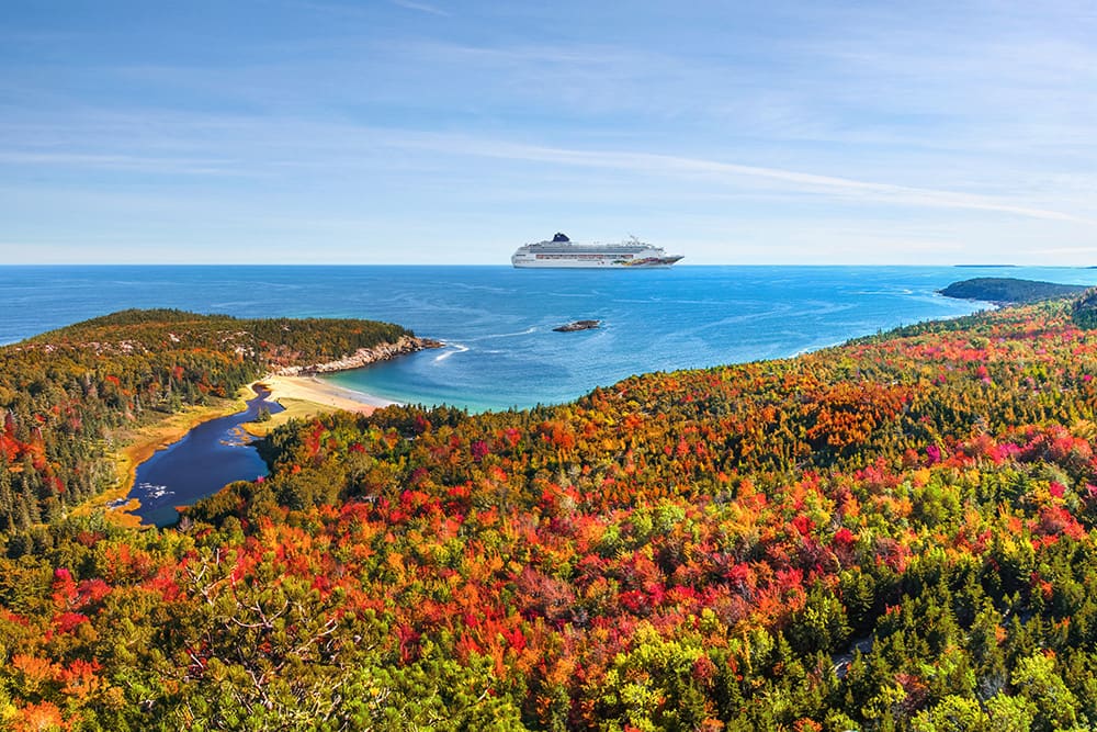
M 122 508 L 108 511 L 111 520 L 128 522 L 137 466 L 195 427 L 239 415 L 253 396 L 249 385 L 264 375 L 284 374 L 278 378 L 287 381 L 272 381 L 291 416 L 367 412 L 367 397 L 338 394 L 312 383 L 312 374 L 433 345 L 373 320 L 242 319 L 161 308 L 121 311 L 4 346 L 0 529 L 106 507 Z M 26 387 L 47 370 L 64 386 Z M 307 388 L 291 391 L 293 380 Z M 265 419 L 278 410 L 256 412 Z

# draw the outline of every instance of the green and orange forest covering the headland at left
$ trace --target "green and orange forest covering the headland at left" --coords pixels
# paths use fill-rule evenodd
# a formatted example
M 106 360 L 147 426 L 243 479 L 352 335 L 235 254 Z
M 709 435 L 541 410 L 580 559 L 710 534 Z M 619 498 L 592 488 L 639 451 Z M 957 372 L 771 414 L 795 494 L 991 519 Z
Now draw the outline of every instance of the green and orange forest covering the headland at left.
M 125 311 L 0 348 L 0 532 L 60 518 L 116 482 L 118 430 L 234 395 L 272 367 L 391 342 L 369 320 Z

